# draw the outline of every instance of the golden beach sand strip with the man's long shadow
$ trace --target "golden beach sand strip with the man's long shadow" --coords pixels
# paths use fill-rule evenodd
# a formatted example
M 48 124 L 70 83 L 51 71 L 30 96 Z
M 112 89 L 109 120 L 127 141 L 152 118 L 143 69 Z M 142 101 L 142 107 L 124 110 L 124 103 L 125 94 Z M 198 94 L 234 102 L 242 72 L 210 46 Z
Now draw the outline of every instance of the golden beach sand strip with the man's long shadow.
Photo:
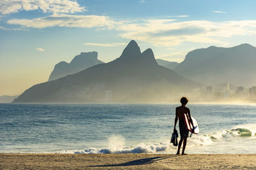
M 256 155 L 1 153 L 0 169 L 256 169 Z

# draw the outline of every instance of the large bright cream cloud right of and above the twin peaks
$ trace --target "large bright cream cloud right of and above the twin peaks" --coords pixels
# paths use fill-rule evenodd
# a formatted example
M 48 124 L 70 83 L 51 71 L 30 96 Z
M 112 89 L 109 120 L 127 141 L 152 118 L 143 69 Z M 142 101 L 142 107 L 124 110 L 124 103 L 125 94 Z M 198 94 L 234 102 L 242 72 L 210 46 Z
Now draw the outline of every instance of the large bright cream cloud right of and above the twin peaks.
M 256 20 L 210 22 L 170 19 L 144 20 L 119 25 L 120 36 L 152 43 L 155 46 L 175 46 L 183 42 L 225 44 L 227 38 L 256 34 Z

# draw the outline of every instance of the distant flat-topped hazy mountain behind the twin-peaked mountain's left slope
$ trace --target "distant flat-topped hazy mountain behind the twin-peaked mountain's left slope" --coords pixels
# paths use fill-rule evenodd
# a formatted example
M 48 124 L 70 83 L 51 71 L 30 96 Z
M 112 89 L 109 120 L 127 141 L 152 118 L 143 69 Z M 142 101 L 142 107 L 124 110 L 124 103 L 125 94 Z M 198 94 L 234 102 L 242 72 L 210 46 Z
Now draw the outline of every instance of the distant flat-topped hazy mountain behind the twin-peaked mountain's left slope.
M 81 52 L 80 55 L 74 57 L 70 63 L 61 61 L 54 66 L 48 81 L 56 80 L 63 76 L 67 76 L 68 74 L 78 73 L 88 67 L 104 63 L 101 60 L 98 60 L 97 57 L 97 52 Z

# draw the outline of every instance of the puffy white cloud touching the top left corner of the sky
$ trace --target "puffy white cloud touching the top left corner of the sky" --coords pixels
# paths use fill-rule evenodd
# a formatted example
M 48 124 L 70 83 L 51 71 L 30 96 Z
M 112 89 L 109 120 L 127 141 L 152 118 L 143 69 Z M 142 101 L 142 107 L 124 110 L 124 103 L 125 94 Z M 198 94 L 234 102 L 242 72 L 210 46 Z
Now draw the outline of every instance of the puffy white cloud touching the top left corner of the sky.
M 44 13 L 76 13 L 85 11 L 73 0 L 1 0 L 0 13 L 17 13 L 20 10 L 42 10 Z

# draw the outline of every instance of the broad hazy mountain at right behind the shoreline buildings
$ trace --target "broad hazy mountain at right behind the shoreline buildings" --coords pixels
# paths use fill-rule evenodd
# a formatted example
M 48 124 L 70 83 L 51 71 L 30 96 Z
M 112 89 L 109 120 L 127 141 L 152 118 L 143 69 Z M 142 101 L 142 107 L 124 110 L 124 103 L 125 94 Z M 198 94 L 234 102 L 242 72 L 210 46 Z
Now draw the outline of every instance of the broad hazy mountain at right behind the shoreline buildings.
M 206 85 L 230 82 L 236 86 L 252 87 L 256 85 L 255 63 L 256 47 L 252 45 L 210 46 L 189 52 L 173 70 Z

